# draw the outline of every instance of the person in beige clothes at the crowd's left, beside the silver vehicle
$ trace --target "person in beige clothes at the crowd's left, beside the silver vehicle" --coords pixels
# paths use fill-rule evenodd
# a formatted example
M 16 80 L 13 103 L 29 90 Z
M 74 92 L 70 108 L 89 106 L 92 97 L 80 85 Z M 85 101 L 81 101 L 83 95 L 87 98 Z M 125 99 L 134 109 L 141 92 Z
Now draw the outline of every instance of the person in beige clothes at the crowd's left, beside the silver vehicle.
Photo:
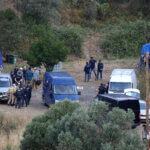
M 14 105 L 14 101 L 15 101 L 14 93 L 15 92 L 16 92 L 15 84 L 13 84 L 8 90 L 8 93 L 9 93 L 8 105 Z

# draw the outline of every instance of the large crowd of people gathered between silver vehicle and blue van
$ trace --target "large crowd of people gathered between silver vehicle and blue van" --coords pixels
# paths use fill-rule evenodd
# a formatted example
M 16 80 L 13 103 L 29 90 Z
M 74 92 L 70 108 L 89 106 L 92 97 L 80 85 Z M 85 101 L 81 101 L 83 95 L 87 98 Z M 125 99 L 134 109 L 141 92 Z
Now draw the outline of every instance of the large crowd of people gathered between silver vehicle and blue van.
M 32 87 L 37 89 L 39 74 L 36 67 L 32 70 L 31 67 L 27 69 L 26 66 L 23 68 L 16 66 L 11 72 L 13 85 L 8 90 L 10 94 L 8 105 L 15 105 L 15 108 L 21 108 L 24 105 L 27 107 L 30 104 Z

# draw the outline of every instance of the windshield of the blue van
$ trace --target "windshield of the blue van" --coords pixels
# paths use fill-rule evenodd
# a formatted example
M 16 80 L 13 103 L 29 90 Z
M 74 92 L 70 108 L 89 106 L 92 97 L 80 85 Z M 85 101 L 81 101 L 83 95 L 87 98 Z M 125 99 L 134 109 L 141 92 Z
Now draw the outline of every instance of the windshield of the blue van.
M 77 88 L 75 85 L 54 85 L 54 93 L 61 95 L 77 94 Z

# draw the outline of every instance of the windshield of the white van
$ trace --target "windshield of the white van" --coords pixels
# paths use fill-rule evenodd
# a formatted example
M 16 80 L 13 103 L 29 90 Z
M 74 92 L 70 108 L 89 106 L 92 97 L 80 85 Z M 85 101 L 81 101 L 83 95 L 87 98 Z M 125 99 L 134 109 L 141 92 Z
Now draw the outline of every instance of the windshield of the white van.
M 130 82 L 110 82 L 109 84 L 109 91 L 113 92 L 124 92 L 124 89 L 129 89 L 131 88 L 131 83 Z

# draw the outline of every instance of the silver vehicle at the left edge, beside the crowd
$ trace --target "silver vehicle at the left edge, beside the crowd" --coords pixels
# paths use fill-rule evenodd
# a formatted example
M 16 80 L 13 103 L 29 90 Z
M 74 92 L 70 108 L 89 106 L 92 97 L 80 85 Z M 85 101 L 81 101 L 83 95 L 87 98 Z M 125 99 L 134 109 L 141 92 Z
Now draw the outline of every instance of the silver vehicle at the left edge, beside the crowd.
M 0 101 L 8 101 L 8 90 L 12 86 L 12 79 L 10 74 L 0 74 Z

